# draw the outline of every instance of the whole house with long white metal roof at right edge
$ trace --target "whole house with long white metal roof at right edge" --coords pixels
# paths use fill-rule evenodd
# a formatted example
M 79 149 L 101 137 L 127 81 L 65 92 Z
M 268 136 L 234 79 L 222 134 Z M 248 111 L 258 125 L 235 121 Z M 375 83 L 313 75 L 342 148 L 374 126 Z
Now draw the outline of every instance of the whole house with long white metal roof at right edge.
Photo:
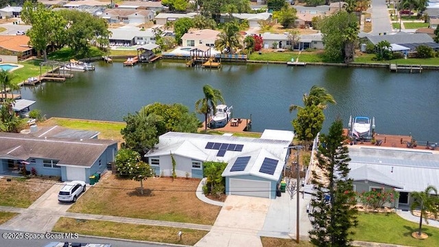
M 349 156 L 354 190 L 395 189 L 400 196 L 392 206 L 397 209 L 410 207 L 410 192 L 439 188 L 439 152 L 354 145 Z

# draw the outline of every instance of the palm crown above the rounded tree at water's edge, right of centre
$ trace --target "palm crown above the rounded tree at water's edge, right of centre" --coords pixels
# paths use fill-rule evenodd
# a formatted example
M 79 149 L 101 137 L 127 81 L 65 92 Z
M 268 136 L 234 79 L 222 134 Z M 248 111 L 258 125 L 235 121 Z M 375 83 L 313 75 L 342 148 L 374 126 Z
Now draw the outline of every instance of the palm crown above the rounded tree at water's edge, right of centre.
M 326 89 L 316 85 L 311 87 L 309 95 L 307 95 L 306 93 L 303 94 L 302 100 L 305 107 L 318 106 L 318 108 L 321 109 L 327 108 L 328 103 L 337 104 L 333 96 L 329 94 Z M 289 112 L 291 113 L 293 110 L 297 110 L 298 108 L 303 107 L 292 104 L 291 106 L 289 106 Z

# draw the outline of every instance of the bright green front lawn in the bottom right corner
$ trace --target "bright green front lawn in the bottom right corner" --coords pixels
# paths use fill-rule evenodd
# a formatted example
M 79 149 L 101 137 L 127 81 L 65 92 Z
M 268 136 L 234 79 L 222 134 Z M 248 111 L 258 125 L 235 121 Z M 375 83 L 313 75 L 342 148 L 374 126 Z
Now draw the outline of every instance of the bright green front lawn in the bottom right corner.
M 418 224 L 403 220 L 396 213 L 360 213 L 358 221 L 358 226 L 353 228 L 354 240 L 404 246 L 439 246 L 439 228 L 423 224 L 423 233 L 429 237 L 414 239 L 412 233 L 418 229 Z

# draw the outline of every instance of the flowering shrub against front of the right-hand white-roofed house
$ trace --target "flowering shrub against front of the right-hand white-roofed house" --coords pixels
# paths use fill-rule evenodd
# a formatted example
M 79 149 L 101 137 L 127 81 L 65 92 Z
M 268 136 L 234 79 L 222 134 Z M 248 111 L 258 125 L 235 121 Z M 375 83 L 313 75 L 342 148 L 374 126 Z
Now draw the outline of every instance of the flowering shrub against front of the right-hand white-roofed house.
M 358 193 L 361 204 L 373 210 L 381 209 L 385 203 L 393 203 L 398 197 L 399 193 L 394 189 L 384 189 L 383 187 Z

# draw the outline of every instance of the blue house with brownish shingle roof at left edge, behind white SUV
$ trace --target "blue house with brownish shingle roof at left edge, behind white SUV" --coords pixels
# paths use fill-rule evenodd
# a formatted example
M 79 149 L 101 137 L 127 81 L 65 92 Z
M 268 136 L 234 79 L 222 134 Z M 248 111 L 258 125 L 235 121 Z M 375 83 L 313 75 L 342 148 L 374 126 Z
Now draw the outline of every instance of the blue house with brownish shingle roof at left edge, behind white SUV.
M 38 136 L 0 132 L 0 174 L 18 175 L 25 167 L 27 171 L 34 168 L 38 175 L 59 176 L 62 181 L 90 183 L 89 176 L 104 172 L 115 159 L 117 141 L 77 139 L 78 133 L 74 132 L 49 132 Z

